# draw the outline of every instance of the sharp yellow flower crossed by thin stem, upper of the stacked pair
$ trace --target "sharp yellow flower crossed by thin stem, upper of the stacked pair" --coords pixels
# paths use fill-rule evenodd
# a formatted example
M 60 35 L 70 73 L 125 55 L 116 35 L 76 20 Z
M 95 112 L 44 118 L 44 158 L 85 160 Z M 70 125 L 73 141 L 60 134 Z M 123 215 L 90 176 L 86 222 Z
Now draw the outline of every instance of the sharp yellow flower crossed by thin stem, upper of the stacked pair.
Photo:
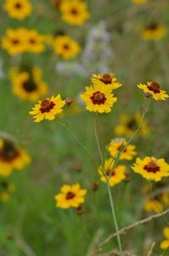
M 134 155 L 137 153 L 135 152 L 135 146 L 128 144 L 126 147 L 127 142 L 123 138 L 116 138 L 110 142 L 110 144 L 107 146 L 108 151 L 112 157 L 116 157 L 117 153 L 120 153 L 123 151 L 123 148 L 125 147 L 123 153 L 120 156 L 120 159 L 126 159 L 126 160 L 132 160 L 134 158 Z

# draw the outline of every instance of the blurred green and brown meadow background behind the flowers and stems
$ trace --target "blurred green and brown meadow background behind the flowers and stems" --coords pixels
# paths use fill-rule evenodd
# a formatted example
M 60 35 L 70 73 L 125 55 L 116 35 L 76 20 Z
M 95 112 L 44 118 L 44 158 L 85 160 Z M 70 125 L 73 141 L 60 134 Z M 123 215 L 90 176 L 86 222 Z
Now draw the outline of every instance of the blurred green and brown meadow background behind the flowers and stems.
M 137 129 L 138 125 L 132 119 L 136 113 L 141 114 L 145 98 L 136 85 L 158 81 L 162 89 L 168 91 L 169 3 L 167 0 L 146 3 L 131 0 L 85 1 L 90 18 L 84 25 L 70 25 L 64 21 L 59 1 L 32 0 L 33 10 L 23 20 L 10 17 L 3 8 L 4 3 L 0 3 L 1 42 L 8 28 L 25 27 L 39 31 L 46 38 L 46 48 L 41 53 L 11 55 L 2 44 L 0 47 L 0 136 L 12 137 L 15 144 L 24 147 L 31 158 L 30 164 L 23 170 L 14 170 L 7 177 L 1 176 L 1 182 L 14 184 L 15 190 L 8 201 L 2 199 L 0 202 L 0 255 L 119 255 L 106 253 L 117 248 L 116 239 L 108 242 L 101 252 L 92 253 L 92 246 L 95 248 L 96 244 L 115 232 L 106 184 L 100 181 L 97 166 L 90 156 L 68 131 L 57 124 L 57 120 L 66 122 L 69 130 L 100 163 L 94 134 L 95 114 L 85 109 L 79 94 L 85 91 L 85 86 L 90 86 L 92 74 L 113 72 L 123 86 L 113 92 L 117 103 L 112 112 L 97 117 L 101 149 L 104 151 L 112 138 L 120 136 L 128 140 L 130 136 L 117 135 L 114 129 L 121 124 L 123 114 L 128 115 L 128 120 L 131 119 L 129 128 L 133 131 Z M 141 28 L 152 23 L 163 25 L 166 35 L 158 40 L 145 40 Z M 64 59 L 54 53 L 53 38 L 58 35 L 68 35 L 79 42 L 79 54 Z M 29 111 L 36 101 L 32 103 L 14 95 L 10 70 L 25 65 L 41 69 L 42 81 L 48 86 L 47 97 L 61 93 L 63 99 L 74 98 L 74 103 L 65 106 L 57 119 L 33 122 Z M 149 131 L 135 136 L 132 142 L 137 156 L 155 156 L 169 161 L 168 114 L 167 100 L 150 100 L 144 119 Z M 144 186 L 149 186 L 149 182 L 131 169 L 137 156 L 131 161 L 122 160 L 127 166 L 128 177 L 112 186 L 120 229 L 155 214 L 153 210 L 144 209 L 144 202 L 150 195 L 145 195 L 142 190 Z M 162 190 L 168 196 L 168 178 L 162 181 Z M 57 208 L 54 195 L 60 192 L 63 184 L 76 182 L 88 191 L 83 213 L 74 208 Z M 96 191 L 93 189 L 95 182 L 98 185 Z M 159 183 L 153 183 L 155 192 Z M 162 203 L 163 209 L 168 208 L 169 200 L 163 203 L 161 193 L 157 195 L 157 200 Z M 126 255 L 148 255 L 152 242 L 155 242 L 155 248 L 150 255 L 168 255 L 167 251 L 162 254 L 160 248 L 165 226 L 166 220 L 161 217 L 128 231 L 121 237 L 123 250 L 130 252 Z

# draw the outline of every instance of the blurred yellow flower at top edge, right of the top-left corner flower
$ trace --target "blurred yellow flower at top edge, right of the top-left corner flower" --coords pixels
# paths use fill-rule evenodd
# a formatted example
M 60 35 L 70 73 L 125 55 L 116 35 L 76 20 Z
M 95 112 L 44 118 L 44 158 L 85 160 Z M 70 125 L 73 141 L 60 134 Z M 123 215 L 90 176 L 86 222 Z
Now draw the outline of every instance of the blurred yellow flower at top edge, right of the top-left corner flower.
M 87 3 L 79 0 L 63 0 L 60 4 L 62 18 L 70 25 L 83 25 L 86 19 L 90 18 L 87 11 Z

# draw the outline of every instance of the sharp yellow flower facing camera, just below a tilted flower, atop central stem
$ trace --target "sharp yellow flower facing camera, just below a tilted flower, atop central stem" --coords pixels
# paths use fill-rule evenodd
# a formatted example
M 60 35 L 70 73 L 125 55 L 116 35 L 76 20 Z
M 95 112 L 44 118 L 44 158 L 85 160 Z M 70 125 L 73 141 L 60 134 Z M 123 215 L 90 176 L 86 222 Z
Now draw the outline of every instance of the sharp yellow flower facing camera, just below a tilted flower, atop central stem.
M 113 104 L 117 101 L 117 97 L 113 97 L 112 89 L 103 83 L 86 86 L 84 94 L 80 97 L 85 102 L 85 109 L 99 113 L 111 112 Z

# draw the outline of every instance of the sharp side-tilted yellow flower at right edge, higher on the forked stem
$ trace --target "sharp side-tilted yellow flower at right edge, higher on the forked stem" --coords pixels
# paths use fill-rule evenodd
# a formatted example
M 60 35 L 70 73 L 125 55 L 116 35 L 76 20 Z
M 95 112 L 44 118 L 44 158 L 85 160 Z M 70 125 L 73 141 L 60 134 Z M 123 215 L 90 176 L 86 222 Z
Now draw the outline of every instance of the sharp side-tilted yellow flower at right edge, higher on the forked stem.
M 166 98 L 169 97 L 166 91 L 161 90 L 161 84 L 156 81 L 148 81 L 147 85 L 139 84 L 137 86 L 139 89 L 143 90 L 145 94 L 150 93 L 155 100 L 166 100 Z

